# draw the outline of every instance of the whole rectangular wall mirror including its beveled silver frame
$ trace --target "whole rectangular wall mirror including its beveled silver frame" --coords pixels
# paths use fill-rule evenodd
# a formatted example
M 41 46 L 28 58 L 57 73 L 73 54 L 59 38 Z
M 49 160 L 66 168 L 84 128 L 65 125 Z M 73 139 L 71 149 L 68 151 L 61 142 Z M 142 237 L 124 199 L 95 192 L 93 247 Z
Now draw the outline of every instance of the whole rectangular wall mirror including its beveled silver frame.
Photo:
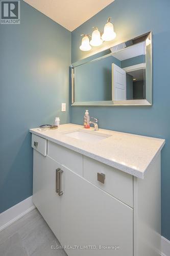
M 152 105 L 152 33 L 71 65 L 72 105 Z

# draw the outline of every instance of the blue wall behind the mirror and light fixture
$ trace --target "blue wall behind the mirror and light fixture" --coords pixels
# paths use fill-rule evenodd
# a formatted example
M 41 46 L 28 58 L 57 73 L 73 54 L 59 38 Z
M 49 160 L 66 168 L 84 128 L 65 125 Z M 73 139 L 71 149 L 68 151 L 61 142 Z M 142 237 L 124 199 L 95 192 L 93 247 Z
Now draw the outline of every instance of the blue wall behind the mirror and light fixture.
M 72 62 L 103 50 L 79 50 L 82 33 L 91 34 L 92 27 L 100 31 L 109 16 L 117 33 L 115 44 L 148 31 L 153 31 L 153 106 L 71 106 L 71 122 L 82 124 L 85 109 L 99 118 L 99 127 L 166 139 L 162 150 L 162 235 L 170 239 L 170 26 L 169 0 L 115 0 L 101 12 L 72 32 Z M 161 65 L 160 65 L 161 63 Z M 152 207 L 152 205 L 151 205 Z

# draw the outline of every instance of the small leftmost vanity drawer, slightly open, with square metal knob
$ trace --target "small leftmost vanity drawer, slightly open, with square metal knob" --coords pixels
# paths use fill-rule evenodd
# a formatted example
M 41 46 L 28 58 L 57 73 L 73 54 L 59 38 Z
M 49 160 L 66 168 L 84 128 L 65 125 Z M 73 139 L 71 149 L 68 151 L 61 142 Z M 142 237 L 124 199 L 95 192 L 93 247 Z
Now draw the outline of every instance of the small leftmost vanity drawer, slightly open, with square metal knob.
M 41 138 L 40 136 L 37 136 L 35 134 L 32 134 L 32 147 L 34 150 L 41 153 L 43 156 L 46 156 L 47 151 L 47 140 L 44 138 Z

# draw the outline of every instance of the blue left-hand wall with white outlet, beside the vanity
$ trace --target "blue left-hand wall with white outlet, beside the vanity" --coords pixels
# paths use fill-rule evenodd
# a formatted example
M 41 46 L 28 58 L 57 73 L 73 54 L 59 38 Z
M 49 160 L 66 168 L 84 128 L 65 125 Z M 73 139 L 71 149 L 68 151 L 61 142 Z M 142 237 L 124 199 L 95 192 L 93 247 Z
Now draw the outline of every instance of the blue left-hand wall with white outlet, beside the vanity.
M 0 212 L 32 195 L 29 129 L 69 122 L 71 33 L 20 2 L 20 25 L 0 25 Z

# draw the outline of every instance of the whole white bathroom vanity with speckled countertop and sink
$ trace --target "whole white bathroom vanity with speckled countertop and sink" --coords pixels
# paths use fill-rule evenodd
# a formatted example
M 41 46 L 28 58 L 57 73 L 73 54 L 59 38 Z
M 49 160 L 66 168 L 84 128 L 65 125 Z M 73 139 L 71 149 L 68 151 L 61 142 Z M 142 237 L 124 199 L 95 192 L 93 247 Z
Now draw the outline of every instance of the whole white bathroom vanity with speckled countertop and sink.
M 76 124 L 30 132 L 33 202 L 68 256 L 160 255 L 163 139 Z

